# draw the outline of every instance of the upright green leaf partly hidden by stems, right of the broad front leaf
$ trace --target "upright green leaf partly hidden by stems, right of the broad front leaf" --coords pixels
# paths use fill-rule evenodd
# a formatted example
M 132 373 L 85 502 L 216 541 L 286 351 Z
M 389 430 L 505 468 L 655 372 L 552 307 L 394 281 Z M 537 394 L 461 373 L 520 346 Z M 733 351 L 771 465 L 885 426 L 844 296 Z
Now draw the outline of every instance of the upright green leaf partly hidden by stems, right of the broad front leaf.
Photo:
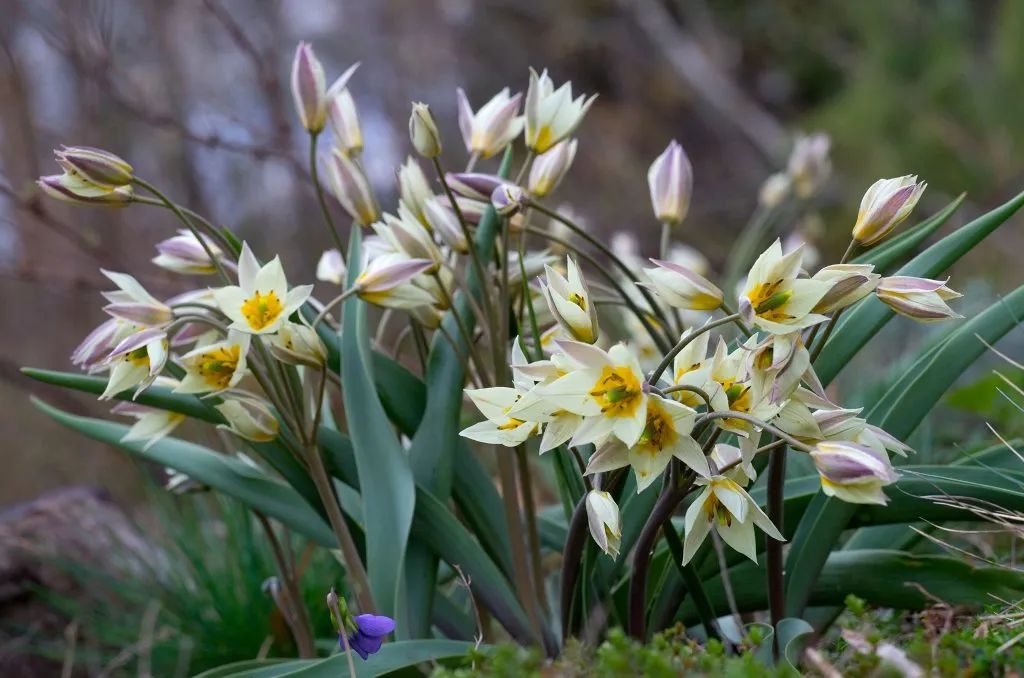
M 500 175 L 508 174 L 512 154 L 508 150 L 502 161 Z M 481 261 L 489 261 L 495 251 L 495 236 L 499 226 L 498 213 L 488 207 L 476 229 L 473 247 Z M 469 291 L 480 296 L 481 285 L 470 269 Z M 489 293 L 489 290 L 487 291 Z M 438 499 L 446 501 L 452 494 L 452 469 L 459 441 L 459 420 L 462 414 L 463 384 L 466 366 L 460 353 L 469 351 L 466 339 L 459 332 L 459 314 L 465 327 L 473 328 L 477 322 L 469 302 L 461 293 L 456 294 L 452 310 L 444 314 L 441 326 L 444 332 L 435 332 L 427 358 L 426 405 L 423 417 L 409 449 L 409 459 L 417 484 L 429 490 Z M 472 330 L 470 330 L 472 334 Z M 451 338 L 451 341 L 450 341 Z M 421 638 L 430 631 L 430 608 L 433 602 L 437 560 L 426 547 L 412 544 L 406 562 L 406 613 L 398 620 L 399 638 Z

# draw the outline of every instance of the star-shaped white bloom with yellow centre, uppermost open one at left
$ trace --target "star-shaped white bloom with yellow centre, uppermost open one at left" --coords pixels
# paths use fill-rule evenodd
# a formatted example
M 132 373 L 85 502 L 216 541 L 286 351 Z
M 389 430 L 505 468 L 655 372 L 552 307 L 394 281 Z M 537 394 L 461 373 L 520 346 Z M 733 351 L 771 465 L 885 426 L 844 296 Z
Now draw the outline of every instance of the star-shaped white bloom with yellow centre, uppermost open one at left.
M 281 258 L 263 266 L 249 249 L 242 245 L 239 256 L 239 284 L 214 290 L 213 298 L 220 310 L 231 320 L 230 329 L 249 334 L 272 334 L 306 302 L 311 285 L 288 289 Z

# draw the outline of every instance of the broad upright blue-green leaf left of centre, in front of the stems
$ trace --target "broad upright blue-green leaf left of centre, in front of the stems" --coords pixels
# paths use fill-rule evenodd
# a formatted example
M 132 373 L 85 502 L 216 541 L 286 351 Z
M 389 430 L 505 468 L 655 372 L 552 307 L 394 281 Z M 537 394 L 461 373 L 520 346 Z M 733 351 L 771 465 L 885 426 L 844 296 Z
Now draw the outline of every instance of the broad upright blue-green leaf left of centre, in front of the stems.
M 361 234 L 353 228 L 350 261 L 359 261 Z M 349 266 L 348 285 L 358 266 Z M 367 573 L 377 612 L 400 617 L 399 585 L 413 522 L 416 482 L 406 451 L 381 406 L 371 374 L 372 353 L 366 303 L 351 297 L 344 305 L 341 337 L 341 391 L 359 477 L 366 520 Z

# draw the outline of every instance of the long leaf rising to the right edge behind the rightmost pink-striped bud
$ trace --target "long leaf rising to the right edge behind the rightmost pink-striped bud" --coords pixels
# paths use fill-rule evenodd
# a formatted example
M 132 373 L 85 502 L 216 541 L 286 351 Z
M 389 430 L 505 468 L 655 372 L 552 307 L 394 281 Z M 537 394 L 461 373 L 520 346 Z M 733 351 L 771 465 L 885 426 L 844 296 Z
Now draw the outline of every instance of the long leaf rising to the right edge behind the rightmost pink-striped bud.
M 1024 193 L 1008 203 L 962 226 L 911 259 L 898 276 L 935 278 L 970 252 L 974 246 L 1005 223 L 1024 205 Z M 814 370 L 822 383 L 828 384 L 853 356 L 894 315 L 888 306 L 868 297 L 847 311 L 836 326 Z

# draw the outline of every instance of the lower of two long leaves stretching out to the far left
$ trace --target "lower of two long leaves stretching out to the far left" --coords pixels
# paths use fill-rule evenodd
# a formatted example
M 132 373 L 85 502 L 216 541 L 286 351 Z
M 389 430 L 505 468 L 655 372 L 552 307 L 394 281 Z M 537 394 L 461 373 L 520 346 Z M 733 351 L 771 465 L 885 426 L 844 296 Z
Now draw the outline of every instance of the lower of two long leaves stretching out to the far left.
M 88 437 L 117 446 L 132 455 L 173 468 L 214 490 L 238 499 L 254 510 L 280 520 L 300 535 L 328 548 L 336 541 L 330 525 L 293 489 L 266 476 L 258 468 L 202 446 L 164 438 L 147 450 L 144 442 L 122 442 L 128 426 L 69 414 L 33 398 L 44 414 Z

